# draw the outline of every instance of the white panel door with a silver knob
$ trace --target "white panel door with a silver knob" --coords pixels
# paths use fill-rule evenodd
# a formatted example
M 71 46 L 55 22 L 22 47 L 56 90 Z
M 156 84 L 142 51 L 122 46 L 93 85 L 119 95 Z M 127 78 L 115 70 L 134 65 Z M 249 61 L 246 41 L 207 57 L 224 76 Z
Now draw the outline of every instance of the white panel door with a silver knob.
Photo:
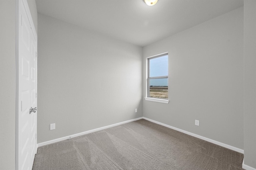
M 31 170 L 36 153 L 37 35 L 26 0 L 19 0 L 18 170 Z M 33 111 L 34 110 L 34 111 Z M 34 113 L 35 112 L 35 113 Z

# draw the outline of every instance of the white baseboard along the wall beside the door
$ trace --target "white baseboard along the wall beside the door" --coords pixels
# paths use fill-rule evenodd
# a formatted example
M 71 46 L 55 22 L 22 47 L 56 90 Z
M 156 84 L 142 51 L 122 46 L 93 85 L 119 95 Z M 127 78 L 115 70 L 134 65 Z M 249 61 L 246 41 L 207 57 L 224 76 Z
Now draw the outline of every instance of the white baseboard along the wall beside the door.
M 66 140 L 66 139 L 71 139 L 71 138 L 74 138 L 74 137 L 78 137 L 78 136 L 81 136 L 81 135 L 85 135 L 85 134 L 88 134 L 88 133 L 100 131 L 100 130 L 103 130 L 103 129 L 107 129 L 107 128 L 110 128 L 110 127 L 122 125 L 124 123 L 132 122 L 132 121 L 136 121 L 136 120 L 140 120 L 140 119 L 142 119 L 142 117 L 139 117 L 139 118 L 136 118 L 136 119 L 131 119 L 131 120 L 128 120 L 128 121 L 123 121 L 123 122 L 116 123 L 116 124 L 113 124 L 113 125 L 108 125 L 108 126 L 100 127 L 100 128 L 97 128 L 97 129 L 92 129 L 90 131 L 85 131 L 85 132 L 77 133 L 77 134 L 66 136 L 66 137 L 61 137 L 61 138 L 54 139 L 54 140 L 51 140 L 51 141 L 46 141 L 46 142 L 38 143 L 38 147 L 42 147 L 44 145 L 48 145 L 48 144 L 51 144 L 51 143 L 56 143 L 56 142 L 63 141 L 63 140 Z

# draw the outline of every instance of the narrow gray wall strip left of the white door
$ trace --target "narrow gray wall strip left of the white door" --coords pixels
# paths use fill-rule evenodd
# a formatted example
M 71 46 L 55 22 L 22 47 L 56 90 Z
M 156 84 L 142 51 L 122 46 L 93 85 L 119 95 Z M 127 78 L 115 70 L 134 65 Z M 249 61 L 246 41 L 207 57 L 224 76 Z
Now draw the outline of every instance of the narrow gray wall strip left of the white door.
M 15 10 L 14 0 L 0 1 L 0 169 L 15 169 Z

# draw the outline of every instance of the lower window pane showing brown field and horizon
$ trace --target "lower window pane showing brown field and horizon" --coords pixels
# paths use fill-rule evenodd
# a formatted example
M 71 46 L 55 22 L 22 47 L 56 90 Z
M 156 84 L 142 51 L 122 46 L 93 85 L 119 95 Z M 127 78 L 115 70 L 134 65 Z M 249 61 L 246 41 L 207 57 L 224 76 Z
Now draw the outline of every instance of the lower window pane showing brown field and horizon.
M 168 78 L 150 79 L 149 97 L 168 98 Z

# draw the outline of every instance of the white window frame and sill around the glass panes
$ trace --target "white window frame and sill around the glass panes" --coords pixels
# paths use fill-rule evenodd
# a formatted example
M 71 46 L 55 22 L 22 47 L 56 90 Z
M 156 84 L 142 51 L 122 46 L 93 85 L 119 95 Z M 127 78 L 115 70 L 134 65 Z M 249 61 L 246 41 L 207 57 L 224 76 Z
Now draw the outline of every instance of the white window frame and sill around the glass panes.
M 149 88 L 150 88 L 149 87 L 149 80 L 150 79 L 156 79 L 156 78 L 168 78 L 168 76 L 158 76 L 158 77 L 150 77 L 149 78 L 149 60 L 150 59 L 154 59 L 154 58 L 158 58 L 158 57 L 163 57 L 165 55 L 168 55 L 168 52 L 161 53 L 161 54 L 154 55 L 154 56 L 146 58 L 146 97 L 145 97 L 145 100 L 147 100 L 147 101 L 160 102 L 160 103 L 164 103 L 164 104 L 168 104 L 169 103 L 169 91 L 168 91 L 168 99 L 151 98 L 151 97 L 149 97 Z M 169 62 L 169 56 L 168 56 L 168 62 Z M 168 63 L 168 69 L 169 69 L 169 63 Z M 169 73 L 169 71 L 168 71 L 168 73 Z M 168 87 L 169 87 L 169 84 L 168 84 Z

